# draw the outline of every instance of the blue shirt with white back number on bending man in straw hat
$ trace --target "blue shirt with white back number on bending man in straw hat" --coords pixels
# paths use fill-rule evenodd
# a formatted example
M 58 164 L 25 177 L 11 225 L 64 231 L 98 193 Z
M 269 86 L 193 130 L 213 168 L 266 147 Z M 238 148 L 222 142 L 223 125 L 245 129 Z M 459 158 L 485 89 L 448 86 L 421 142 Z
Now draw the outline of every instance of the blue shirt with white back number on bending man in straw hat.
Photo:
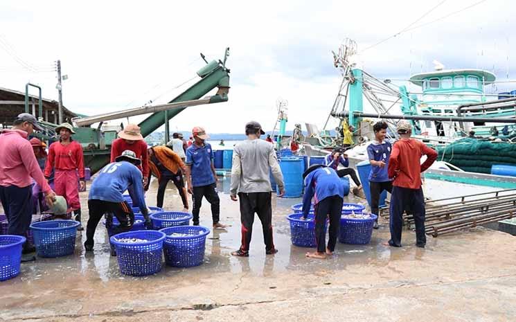
M 109 163 L 100 170 L 89 189 L 88 199 L 98 199 L 105 202 L 123 202 L 122 194 L 129 186 L 134 186 L 136 199 L 142 212 L 145 211 L 141 171 L 127 161 Z

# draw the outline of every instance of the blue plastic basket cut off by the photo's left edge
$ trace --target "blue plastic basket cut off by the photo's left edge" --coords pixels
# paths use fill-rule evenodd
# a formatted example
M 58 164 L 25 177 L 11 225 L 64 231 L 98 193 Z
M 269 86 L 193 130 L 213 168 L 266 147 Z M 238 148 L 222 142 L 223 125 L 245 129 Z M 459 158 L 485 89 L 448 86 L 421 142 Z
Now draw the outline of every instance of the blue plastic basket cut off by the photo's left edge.
M 18 276 L 21 248 L 26 238 L 17 235 L 0 236 L 0 280 Z

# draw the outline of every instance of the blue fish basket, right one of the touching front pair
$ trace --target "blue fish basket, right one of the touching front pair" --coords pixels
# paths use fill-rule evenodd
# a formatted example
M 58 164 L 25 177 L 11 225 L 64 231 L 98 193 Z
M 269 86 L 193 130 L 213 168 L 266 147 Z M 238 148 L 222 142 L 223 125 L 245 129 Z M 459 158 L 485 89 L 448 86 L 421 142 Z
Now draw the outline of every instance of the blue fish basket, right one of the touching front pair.
M 203 226 L 174 226 L 160 230 L 166 233 L 163 244 L 165 262 L 172 267 L 193 267 L 202 264 L 206 235 L 210 230 Z M 191 236 L 172 236 L 172 233 L 186 233 Z

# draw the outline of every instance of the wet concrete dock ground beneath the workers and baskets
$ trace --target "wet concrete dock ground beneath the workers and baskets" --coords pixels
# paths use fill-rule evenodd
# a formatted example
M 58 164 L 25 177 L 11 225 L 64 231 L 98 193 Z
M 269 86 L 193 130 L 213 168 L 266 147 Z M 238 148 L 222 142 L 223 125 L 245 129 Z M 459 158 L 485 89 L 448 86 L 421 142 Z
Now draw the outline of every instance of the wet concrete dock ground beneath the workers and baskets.
M 489 229 L 439 238 L 426 249 L 382 246 L 389 227 L 371 244 L 337 244 L 328 260 L 304 257 L 290 242 L 285 216 L 301 199 L 273 199 L 279 252 L 265 256 L 260 222 L 253 226 L 249 258 L 240 245 L 238 202 L 229 199 L 229 177 L 219 182 L 221 221 L 232 226 L 206 240 L 202 266 L 164 267 L 154 276 L 118 272 L 99 224 L 94 253 L 84 253 L 84 232 L 73 256 L 22 264 L 19 277 L 0 283 L 0 321 L 515 321 L 516 239 Z M 155 205 L 157 183 L 146 195 Z M 83 223 L 87 193 L 81 193 Z M 360 200 L 364 203 L 365 201 Z M 181 200 L 170 185 L 167 210 Z M 204 201 L 201 224 L 211 227 Z

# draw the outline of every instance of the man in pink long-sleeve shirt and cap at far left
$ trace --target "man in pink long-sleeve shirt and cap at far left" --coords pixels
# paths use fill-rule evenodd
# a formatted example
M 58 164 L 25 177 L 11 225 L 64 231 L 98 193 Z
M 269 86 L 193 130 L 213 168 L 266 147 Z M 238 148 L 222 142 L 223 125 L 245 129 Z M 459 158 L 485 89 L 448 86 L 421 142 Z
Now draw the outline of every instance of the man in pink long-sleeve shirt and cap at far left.
M 36 118 L 22 113 L 17 116 L 11 129 L 4 129 L 0 134 L 0 200 L 9 222 L 9 235 L 25 236 L 30 226 L 33 215 L 31 178 L 42 187 L 49 206 L 53 205 L 55 198 L 27 140 L 35 129 L 42 130 Z M 34 247 L 25 243 L 24 253 L 31 251 L 34 251 Z M 22 261 L 34 259 L 34 256 L 22 257 Z

